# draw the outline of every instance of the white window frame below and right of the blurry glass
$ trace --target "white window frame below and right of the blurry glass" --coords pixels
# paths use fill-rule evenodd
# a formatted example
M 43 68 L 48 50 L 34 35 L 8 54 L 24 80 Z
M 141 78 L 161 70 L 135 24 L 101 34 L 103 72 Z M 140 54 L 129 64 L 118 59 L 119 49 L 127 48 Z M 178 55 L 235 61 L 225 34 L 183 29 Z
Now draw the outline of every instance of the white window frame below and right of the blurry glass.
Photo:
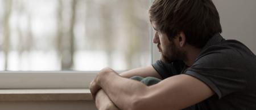
M 150 0 L 152 3 L 152 0 Z M 150 30 L 151 64 L 159 59 L 159 52 L 152 43 Z M 124 71 L 118 71 L 122 73 Z M 1 89 L 88 89 L 98 71 L 0 71 Z

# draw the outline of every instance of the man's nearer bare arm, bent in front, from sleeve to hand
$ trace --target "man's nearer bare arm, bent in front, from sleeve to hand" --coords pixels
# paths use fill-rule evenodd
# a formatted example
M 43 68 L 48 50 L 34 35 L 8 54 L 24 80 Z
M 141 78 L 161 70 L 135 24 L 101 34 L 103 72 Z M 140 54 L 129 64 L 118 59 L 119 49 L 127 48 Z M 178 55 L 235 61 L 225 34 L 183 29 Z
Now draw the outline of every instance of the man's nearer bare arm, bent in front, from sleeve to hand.
M 214 94 L 205 83 L 186 74 L 146 86 L 106 71 L 98 75 L 96 83 L 120 109 L 183 109 Z

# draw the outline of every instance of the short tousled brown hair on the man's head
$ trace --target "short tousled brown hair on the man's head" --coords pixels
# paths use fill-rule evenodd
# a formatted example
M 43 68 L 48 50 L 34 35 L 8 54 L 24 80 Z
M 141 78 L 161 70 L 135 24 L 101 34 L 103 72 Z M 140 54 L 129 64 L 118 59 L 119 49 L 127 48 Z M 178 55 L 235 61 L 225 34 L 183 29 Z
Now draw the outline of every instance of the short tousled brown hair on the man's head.
M 222 32 L 212 0 L 155 0 L 149 14 L 150 21 L 170 41 L 184 32 L 187 43 L 202 48 L 214 34 Z

